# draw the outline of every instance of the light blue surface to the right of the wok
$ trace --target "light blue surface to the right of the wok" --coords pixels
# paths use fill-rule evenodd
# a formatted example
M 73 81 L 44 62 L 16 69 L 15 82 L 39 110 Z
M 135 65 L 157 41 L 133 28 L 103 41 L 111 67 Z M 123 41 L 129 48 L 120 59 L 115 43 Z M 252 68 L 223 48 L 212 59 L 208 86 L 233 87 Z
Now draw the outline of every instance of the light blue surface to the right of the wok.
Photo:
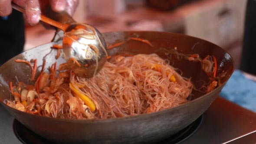
M 256 112 L 256 82 L 246 79 L 240 70 L 235 70 L 220 96 Z

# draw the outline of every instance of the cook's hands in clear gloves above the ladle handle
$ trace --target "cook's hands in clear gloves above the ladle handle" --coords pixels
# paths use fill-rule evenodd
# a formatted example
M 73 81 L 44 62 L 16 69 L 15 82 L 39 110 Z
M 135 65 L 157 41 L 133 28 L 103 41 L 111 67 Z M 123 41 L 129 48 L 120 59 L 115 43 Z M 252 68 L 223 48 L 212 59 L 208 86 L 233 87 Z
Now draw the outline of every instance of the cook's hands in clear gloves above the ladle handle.
M 19 5 L 20 7 L 25 8 L 27 21 L 31 25 L 35 25 L 36 23 L 39 22 L 41 16 L 39 0 L 0 0 L 0 16 L 10 15 L 10 13 L 12 12 L 12 1 Z M 44 1 L 42 0 L 41 2 Z M 70 15 L 74 14 L 75 9 L 79 3 L 78 0 L 49 0 L 49 2 L 53 11 L 66 11 Z

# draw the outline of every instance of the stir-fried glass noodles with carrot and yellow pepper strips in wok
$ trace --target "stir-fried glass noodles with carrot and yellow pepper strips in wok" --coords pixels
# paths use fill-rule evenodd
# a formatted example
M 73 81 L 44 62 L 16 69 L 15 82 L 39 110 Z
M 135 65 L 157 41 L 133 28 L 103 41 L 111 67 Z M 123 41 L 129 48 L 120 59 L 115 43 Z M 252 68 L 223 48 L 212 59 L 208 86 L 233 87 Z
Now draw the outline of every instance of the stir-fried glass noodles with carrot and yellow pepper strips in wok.
M 210 92 L 217 86 L 214 56 L 201 59 L 197 54 L 184 55 L 175 49 L 172 53 L 179 59 L 201 62 L 202 70 L 212 77 L 210 83 L 198 90 Z M 194 88 L 190 78 L 182 77 L 168 60 L 156 54 L 109 56 L 102 70 L 90 79 L 75 75 L 67 62 L 58 69 L 54 63 L 45 72 L 45 60 L 35 79 L 37 59 L 30 62 L 16 59 L 15 62 L 30 65 L 30 80 L 35 83 L 14 85 L 10 82 L 14 101 L 6 100 L 6 104 L 53 118 L 106 119 L 161 111 L 187 102 Z M 75 59 L 69 62 L 76 63 Z

